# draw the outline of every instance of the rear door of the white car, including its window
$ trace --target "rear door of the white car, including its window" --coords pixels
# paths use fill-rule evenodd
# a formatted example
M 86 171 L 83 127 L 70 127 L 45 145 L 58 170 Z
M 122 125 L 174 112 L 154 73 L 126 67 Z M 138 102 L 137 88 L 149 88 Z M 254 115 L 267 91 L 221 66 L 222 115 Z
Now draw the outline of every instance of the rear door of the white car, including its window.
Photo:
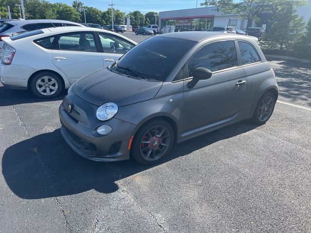
M 60 34 L 52 50 L 52 63 L 72 84 L 79 78 L 103 68 L 102 54 L 96 46 L 93 32 Z

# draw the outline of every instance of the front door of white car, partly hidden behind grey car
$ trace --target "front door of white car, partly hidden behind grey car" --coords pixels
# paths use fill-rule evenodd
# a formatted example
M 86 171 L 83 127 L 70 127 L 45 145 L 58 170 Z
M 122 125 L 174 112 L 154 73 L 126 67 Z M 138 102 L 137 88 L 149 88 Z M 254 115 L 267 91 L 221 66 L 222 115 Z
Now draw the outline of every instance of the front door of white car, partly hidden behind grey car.
M 104 67 L 110 66 L 117 61 L 124 53 L 134 48 L 134 44 L 120 36 L 110 33 L 98 33 L 99 41 L 103 47 Z

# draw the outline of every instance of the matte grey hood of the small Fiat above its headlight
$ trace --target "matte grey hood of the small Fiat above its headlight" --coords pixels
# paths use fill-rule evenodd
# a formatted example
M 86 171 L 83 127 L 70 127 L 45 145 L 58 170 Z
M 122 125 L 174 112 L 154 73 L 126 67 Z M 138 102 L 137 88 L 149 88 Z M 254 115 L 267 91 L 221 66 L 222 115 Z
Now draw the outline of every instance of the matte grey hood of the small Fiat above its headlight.
M 154 98 L 161 86 L 162 82 L 129 78 L 103 68 L 79 79 L 72 91 L 97 106 L 115 102 L 121 107 Z

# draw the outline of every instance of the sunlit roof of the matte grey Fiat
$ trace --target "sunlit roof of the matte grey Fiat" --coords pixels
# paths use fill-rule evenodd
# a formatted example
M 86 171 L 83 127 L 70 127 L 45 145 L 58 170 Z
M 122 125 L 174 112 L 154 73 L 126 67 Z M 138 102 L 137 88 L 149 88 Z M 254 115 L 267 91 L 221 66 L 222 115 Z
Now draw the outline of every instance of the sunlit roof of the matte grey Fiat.
M 172 37 L 179 38 L 185 40 L 193 40 L 193 41 L 203 41 L 208 38 L 216 38 L 220 39 L 245 39 L 245 35 L 233 34 L 233 33 L 218 33 L 218 32 L 177 32 L 177 33 L 166 33 L 157 36 L 162 37 Z M 252 39 L 252 38 L 250 38 Z

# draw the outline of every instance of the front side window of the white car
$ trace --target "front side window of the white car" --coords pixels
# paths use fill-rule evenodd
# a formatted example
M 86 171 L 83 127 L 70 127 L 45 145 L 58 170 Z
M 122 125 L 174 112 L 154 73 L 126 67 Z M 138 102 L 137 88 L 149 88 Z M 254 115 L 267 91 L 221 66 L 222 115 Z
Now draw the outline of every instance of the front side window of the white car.
M 99 33 L 99 38 L 105 53 L 124 54 L 135 46 L 125 39 L 113 34 Z

